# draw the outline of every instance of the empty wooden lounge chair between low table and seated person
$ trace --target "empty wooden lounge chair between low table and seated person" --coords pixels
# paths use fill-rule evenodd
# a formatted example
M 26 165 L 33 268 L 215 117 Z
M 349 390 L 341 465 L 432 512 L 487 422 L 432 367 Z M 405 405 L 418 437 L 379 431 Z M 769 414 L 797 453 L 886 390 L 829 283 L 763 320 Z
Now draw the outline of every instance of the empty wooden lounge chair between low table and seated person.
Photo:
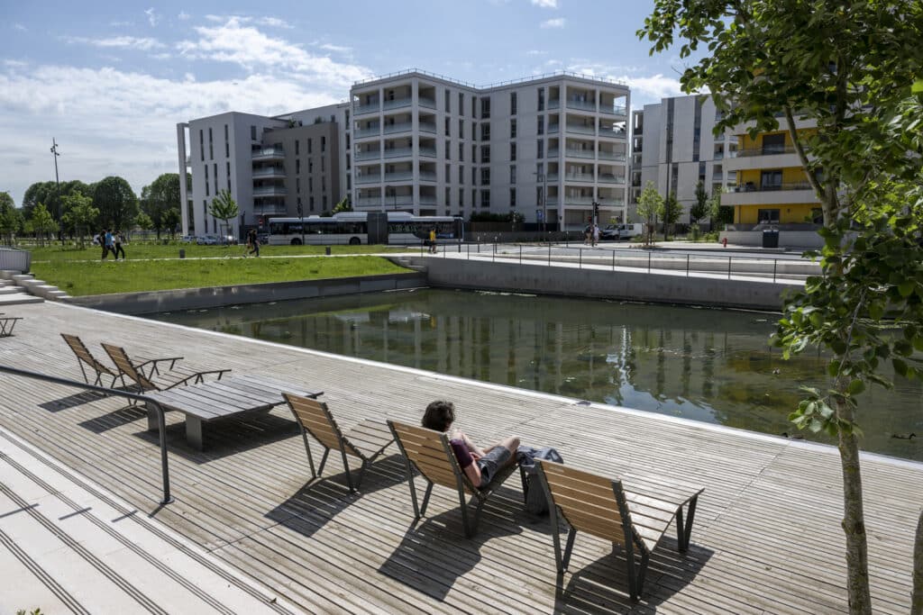
M 305 441 L 307 463 L 311 466 L 312 479 L 323 473 L 324 464 L 327 463 L 327 455 L 330 454 L 330 450 L 337 450 L 340 451 L 342 456 L 349 491 L 356 491 L 359 485 L 362 484 L 362 477 L 366 472 L 366 467 L 394 442 L 394 436 L 391 435 L 388 427 L 382 422 L 366 419 L 349 432 L 343 433 L 324 402 L 310 397 L 294 395 L 293 393 L 283 393 L 282 396 L 288 402 L 289 408 L 292 408 L 294 420 L 301 428 L 301 436 Z M 308 433 L 324 447 L 324 455 L 320 459 L 320 467 L 318 467 L 317 471 L 314 470 L 314 458 L 311 456 L 311 447 L 307 442 Z M 349 463 L 346 461 L 346 455 L 353 455 L 362 461 L 362 467 L 359 468 L 359 476 L 355 479 L 355 485 L 353 485 L 353 476 L 349 469 Z

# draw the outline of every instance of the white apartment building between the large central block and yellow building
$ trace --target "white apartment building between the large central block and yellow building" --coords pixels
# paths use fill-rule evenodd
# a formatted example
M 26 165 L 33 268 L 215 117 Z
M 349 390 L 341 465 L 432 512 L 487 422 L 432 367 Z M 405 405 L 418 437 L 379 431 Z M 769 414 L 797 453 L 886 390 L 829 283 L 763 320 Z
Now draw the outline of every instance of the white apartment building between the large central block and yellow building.
M 737 156 L 737 136 L 726 131 L 715 137 L 720 119 L 710 96 L 678 96 L 644 105 L 631 114 L 631 205 L 629 219 L 637 219 L 641 190 L 653 182 L 660 194 L 677 195 L 683 207 L 680 223 L 689 223 L 696 184 L 709 195 L 727 192 L 737 183 L 725 159 Z

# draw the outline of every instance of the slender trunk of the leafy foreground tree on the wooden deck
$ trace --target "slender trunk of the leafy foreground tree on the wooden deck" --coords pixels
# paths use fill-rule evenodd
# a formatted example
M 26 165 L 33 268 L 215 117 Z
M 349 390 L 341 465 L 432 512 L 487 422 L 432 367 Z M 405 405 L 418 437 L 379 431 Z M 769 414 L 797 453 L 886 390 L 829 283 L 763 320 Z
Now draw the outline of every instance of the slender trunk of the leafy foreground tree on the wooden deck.
M 845 390 L 847 381 L 837 382 Z M 853 422 L 856 418 L 851 406 L 836 403 L 836 416 Z M 843 531 L 846 535 L 846 590 L 849 595 L 849 612 L 853 615 L 871 614 L 869 591 L 869 545 L 865 531 L 865 512 L 862 505 L 862 474 L 859 468 L 858 439 L 854 433 L 840 432 L 840 465 L 843 470 Z

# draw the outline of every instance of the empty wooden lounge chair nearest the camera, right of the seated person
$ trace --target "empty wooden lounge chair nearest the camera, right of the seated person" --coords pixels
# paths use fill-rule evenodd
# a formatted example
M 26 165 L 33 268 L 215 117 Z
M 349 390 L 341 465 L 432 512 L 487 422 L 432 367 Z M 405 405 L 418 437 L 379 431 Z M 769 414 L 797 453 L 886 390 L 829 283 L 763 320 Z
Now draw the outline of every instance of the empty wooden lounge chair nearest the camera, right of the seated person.
M 677 519 L 679 550 L 689 549 L 689 534 L 701 488 L 661 486 L 661 495 L 626 492 L 621 480 L 605 477 L 538 459 L 539 482 L 548 498 L 554 531 L 557 574 L 564 574 L 577 532 L 604 538 L 625 552 L 628 563 L 629 596 L 637 600 L 651 552 L 674 517 Z M 683 506 L 688 506 L 685 523 Z M 569 526 L 567 545 L 561 552 L 558 519 Z M 635 561 L 637 554 L 639 561 Z

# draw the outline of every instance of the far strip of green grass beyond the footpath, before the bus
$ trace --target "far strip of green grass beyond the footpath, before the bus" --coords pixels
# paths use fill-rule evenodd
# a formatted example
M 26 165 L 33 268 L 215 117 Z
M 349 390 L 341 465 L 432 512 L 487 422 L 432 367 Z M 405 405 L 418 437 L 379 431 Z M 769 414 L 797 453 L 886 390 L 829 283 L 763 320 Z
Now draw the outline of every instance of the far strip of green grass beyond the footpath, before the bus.
M 82 250 L 76 246 L 46 245 L 19 246 L 32 253 L 32 264 L 42 262 L 63 263 L 68 261 L 100 260 L 102 248 L 86 247 Z M 197 245 L 195 243 L 170 242 L 167 245 L 153 242 L 126 243 L 126 256 L 130 260 L 140 258 L 177 258 L 180 250 L 186 251 L 186 258 L 207 258 L 223 256 L 240 256 L 245 254 L 246 246 L 241 245 Z M 300 254 L 324 254 L 323 245 L 264 245 L 259 248 L 260 256 L 296 256 Z M 402 252 L 403 248 L 384 245 L 331 245 L 330 254 L 380 254 L 383 252 Z M 417 248 L 419 249 L 419 248 Z M 110 256 L 109 260 L 112 260 Z

